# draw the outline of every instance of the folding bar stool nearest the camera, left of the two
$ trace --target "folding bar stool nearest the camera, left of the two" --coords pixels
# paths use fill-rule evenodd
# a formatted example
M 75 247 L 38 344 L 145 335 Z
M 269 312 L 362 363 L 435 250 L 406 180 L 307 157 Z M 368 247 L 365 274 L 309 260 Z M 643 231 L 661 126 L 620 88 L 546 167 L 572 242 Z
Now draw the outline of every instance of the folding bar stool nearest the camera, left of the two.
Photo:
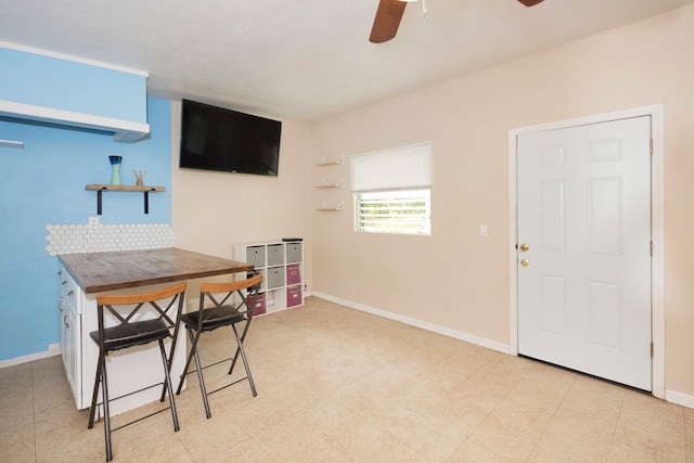
M 99 330 L 89 333 L 89 336 L 99 346 L 99 363 L 97 365 L 97 378 L 94 381 L 94 390 L 91 398 L 88 428 L 91 429 L 94 426 L 99 384 L 101 384 L 107 462 L 113 459 L 111 433 L 114 430 L 167 410 L 171 410 L 174 430 L 179 430 L 169 370 L 171 368 L 171 359 L 174 358 L 176 339 L 178 337 L 185 286 L 187 283 L 179 283 L 162 290 L 153 290 L 142 293 L 97 296 Z M 124 309 L 124 306 L 130 307 Z M 154 317 L 152 317 L 152 314 L 154 314 Z M 171 337 L 171 347 L 169 349 L 168 358 L 164 348 L 164 339 L 167 337 Z M 164 366 L 164 381 L 162 383 L 147 386 L 146 388 L 163 385 L 164 393 L 162 394 L 162 401 L 164 401 L 164 396 L 166 395 L 166 391 L 168 391 L 169 407 L 111 429 L 108 401 L 116 400 L 125 396 L 116 398 L 108 397 L 106 356 L 108 352 L 115 350 L 142 346 L 153 342 L 158 342 L 159 344 L 162 365 Z

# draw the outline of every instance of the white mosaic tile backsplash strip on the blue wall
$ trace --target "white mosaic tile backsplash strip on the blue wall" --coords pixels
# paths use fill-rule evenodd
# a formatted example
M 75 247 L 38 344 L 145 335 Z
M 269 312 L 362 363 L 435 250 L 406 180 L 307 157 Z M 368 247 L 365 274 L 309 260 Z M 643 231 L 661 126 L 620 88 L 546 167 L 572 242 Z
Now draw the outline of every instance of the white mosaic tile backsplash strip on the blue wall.
M 169 223 L 46 226 L 51 256 L 110 250 L 160 249 L 174 246 Z

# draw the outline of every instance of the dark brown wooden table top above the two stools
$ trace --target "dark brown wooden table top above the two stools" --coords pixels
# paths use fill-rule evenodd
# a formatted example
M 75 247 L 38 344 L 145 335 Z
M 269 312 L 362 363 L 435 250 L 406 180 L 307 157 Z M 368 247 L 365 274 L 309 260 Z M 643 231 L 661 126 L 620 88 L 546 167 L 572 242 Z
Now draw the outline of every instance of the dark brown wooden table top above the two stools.
M 253 270 L 246 262 L 176 247 L 57 257 L 88 294 Z

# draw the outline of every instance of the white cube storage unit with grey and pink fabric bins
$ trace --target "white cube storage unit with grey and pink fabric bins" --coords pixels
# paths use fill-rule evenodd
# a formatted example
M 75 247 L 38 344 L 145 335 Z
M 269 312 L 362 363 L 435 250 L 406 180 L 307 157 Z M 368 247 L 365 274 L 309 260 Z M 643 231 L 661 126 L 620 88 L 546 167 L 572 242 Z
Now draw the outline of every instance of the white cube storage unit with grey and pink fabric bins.
M 252 263 L 262 273 L 255 314 L 304 305 L 304 242 L 235 244 L 234 259 Z

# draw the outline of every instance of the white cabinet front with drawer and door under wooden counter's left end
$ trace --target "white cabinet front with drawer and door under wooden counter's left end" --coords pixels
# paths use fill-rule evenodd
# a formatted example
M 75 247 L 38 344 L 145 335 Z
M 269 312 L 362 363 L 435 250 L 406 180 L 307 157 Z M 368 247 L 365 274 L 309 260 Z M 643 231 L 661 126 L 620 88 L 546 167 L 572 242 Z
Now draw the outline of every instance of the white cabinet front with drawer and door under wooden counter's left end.
M 61 356 L 77 408 L 81 401 L 81 290 L 64 268 L 59 272 Z

